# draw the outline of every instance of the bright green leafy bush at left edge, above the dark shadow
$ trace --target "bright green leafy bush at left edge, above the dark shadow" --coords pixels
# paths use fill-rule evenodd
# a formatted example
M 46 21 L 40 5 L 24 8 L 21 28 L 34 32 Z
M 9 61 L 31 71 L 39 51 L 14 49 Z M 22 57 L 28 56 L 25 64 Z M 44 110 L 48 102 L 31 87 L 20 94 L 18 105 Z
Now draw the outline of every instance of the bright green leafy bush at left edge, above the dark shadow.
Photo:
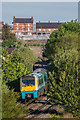
M 2 54 L 2 56 L 5 57 L 2 61 L 3 82 L 8 83 L 28 73 L 24 60 L 18 54 L 8 55 L 6 53 L 6 55 Z

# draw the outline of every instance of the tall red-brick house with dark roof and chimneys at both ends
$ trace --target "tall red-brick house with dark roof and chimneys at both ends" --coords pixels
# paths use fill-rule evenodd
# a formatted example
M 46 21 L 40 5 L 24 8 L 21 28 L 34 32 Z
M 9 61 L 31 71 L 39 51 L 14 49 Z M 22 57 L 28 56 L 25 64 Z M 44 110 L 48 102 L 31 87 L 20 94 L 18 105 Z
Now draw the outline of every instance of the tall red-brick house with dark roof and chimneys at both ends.
M 14 33 L 16 35 L 32 35 L 33 34 L 33 17 L 31 18 L 15 18 L 13 17 Z

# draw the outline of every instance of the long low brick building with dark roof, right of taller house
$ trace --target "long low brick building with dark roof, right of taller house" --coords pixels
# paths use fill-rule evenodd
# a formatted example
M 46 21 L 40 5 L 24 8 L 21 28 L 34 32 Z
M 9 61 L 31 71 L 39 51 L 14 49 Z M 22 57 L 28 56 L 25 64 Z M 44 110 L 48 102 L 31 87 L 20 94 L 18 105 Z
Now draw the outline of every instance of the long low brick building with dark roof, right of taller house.
M 52 22 L 46 22 L 46 23 L 42 23 L 42 22 L 37 22 L 36 23 L 36 34 L 40 35 L 40 34 L 51 34 L 54 30 L 58 30 L 59 26 L 62 23 L 52 23 Z

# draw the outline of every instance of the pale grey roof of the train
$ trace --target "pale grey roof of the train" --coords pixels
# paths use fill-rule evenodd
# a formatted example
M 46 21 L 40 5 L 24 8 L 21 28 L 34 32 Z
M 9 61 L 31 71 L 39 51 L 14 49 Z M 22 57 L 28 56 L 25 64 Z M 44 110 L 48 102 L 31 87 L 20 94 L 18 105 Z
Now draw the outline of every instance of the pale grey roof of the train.
M 38 69 L 34 70 L 32 73 L 25 75 L 25 77 L 26 76 L 30 76 L 30 77 L 41 76 L 45 71 L 46 70 L 44 68 L 38 68 Z

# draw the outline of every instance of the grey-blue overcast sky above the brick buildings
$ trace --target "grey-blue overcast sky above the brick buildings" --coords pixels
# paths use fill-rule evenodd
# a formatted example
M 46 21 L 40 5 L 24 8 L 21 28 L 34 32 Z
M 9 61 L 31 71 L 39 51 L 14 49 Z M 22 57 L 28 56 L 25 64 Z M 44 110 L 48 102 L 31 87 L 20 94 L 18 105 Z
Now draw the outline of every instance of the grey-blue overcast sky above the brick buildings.
M 13 16 L 36 21 L 71 21 L 78 18 L 77 2 L 3 2 L 2 20 L 11 24 Z

